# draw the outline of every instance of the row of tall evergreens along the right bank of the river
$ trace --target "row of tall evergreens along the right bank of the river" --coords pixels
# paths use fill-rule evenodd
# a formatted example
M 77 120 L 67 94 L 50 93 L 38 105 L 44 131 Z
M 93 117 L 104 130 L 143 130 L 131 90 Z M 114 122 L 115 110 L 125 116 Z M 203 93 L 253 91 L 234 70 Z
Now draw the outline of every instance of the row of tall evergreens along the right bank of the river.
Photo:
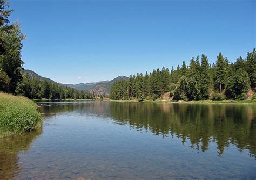
M 248 91 L 256 87 L 256 51 L 247 53 L 246 59 L 238 57 L 229 62 L 219 53 L 212 65 L 207 56 L 192 57 L 187 66 L 176 69 L 163 67 L 151 73 L 131 75 L 129 80 L 118 81 L 112 85 L 111 99 L 156 100 L 170 92 L 173 100 L 224 100 L 246 99 Z M 256 98 L 255 94 L 252 98 Z

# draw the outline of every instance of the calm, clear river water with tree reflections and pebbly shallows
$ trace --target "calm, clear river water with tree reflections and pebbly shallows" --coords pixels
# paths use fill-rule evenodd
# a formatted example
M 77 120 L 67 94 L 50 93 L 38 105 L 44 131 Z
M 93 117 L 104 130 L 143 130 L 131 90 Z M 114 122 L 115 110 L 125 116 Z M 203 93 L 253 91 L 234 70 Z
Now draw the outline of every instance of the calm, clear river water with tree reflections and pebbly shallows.
M 0 139 L 0 179 L 255 179 L 256 106 L 38 103 L 42 129 Z

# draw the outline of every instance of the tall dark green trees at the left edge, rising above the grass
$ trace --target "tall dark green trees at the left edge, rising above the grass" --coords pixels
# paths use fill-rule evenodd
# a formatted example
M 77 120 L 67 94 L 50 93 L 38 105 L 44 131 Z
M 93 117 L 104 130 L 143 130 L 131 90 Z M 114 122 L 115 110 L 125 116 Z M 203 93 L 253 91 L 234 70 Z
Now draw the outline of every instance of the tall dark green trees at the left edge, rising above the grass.
M 8 3 L 0 1 L 0 70 L 4 71 L 9 79 L 9 91 L 15 93 L 18 82 L 22 80 L 21 60 L 22 41 L 25 35 L 17 23 L 9 24 L 8 17 L 12 10 L 6 10 Z

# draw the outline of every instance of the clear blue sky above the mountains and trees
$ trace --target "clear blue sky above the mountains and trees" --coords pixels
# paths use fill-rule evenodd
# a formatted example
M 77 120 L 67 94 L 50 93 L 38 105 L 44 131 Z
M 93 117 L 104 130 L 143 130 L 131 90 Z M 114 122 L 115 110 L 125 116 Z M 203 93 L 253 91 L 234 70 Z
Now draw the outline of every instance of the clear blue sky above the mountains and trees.
M 255 45 L 255 1 L 9 0 L 24 68 L 58 83 L 87 83 L 221 52 L 230 62 Z

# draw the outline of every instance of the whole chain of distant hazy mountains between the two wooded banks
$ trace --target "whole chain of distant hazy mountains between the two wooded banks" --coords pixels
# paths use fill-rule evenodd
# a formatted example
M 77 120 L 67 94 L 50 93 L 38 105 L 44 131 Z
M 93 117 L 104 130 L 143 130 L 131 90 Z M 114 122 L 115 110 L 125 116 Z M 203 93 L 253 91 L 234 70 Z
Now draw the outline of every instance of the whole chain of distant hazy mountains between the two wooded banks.
M 24 71 L 24 73 L 29 74 L 29 77 L 37 77 L 41 81 L 46 80 L 46 81 L 55 82 L 55 81 L 51 80 L 50 78 L 39 76 L 37 73 L 35 73 L 32 70 L 24 69 L 23 71 Z M 75 88 L 77 90 L 89 91 L 90 93 L 93 93 L 94 95 L 97 95 L 97 96 L 100 96 L 100 95 L 109 96 L 111 86 L 114 82 L 119 81 L 119 80 L 128 80 L 128 79 L 129 79 L 129 77 L 126 77 L 126 76 L 118 76 L 111 81 L 100 81 L 100 82 L 86 83 L 86 84 L 84 84 L 84 83 L 80 83 L 80 84 L 58 83 L 58 84 L 61 85 L 62 87 L 68 86 L 71 88 Z

